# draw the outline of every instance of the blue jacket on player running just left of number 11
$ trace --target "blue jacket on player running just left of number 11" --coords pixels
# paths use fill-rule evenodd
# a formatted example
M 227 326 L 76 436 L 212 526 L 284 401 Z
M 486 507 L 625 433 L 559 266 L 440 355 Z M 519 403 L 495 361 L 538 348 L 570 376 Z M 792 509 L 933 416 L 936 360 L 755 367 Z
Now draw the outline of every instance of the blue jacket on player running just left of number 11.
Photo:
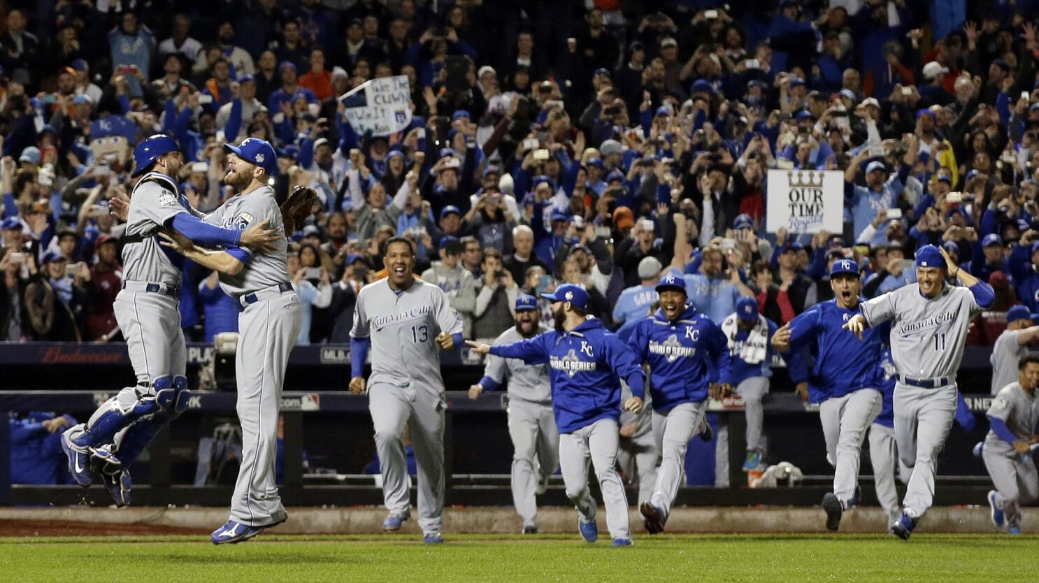
M 790 351 L 782 356 L 791 367 L 791 380 L 808 381 L 810 402 L 820 403 L 859 389 L 883 386 L 883 369 L 879 366 L 883 330 L 867 328 L 859 340 L 841 327 L 858 313 L 858 309 L 846 310 L 831 299 L 791 320 Z M 815 361 L 806 375 L 802 372 L 806 369 L 802 361 L 805 349 Z

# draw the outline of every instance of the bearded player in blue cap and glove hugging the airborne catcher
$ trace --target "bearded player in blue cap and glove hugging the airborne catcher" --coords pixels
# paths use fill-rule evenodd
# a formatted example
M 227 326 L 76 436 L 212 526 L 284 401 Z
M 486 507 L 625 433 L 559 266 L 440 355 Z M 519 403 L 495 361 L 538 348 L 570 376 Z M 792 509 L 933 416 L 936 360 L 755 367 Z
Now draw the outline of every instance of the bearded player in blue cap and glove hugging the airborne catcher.
M 220 272 L 220 287 L 239 304 L 235 376 L 237 412 L 242 426 L 242 460 L 231 499 L 231 516 L 213 531 L 214 545 L 241 542 L 288 520 L 277 494 L 274 460 L 277 415 L 289 352 L 299 336 L 302 312 L 288 274 L 288 241 L 282 211 L 268 185 L 277 174 L 274 149 L 265 140 L 246 138 L 230 153 L 223 183 L 238 194 L 206 220 L 225 229 L 245 230 L 269 223 L 278 233 L 271 250 L 222 250 L 195 247 L 180 237 L 170 246 L 195 263 Z

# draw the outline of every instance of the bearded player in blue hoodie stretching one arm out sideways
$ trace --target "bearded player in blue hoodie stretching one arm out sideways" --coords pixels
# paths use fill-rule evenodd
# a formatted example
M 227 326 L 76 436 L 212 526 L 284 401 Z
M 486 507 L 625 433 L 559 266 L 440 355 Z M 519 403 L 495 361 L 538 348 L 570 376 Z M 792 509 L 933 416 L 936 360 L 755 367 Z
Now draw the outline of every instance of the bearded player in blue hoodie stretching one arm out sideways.
M 642 410 L 645 377 L 631 350 L 602 320 L 589 318 L 588 292 L 563 284 L 551 294 L 556 329 L 512 344 L 488 346 L 469 341 L 480 354 L 522 359 L 552 368 L 552 410 L 559 427 L 559 465 L 566 496 L 578 510 L 578 530 L 588 542 L 598 538 L 595 500 L 588 489 L 588 460 L 595 467 L 606 524 L 616 547 L 632 544 L 628 498 L 617 474 L 617 420 L 620 417 L 620 378 L 634 395 L 624 408 Z

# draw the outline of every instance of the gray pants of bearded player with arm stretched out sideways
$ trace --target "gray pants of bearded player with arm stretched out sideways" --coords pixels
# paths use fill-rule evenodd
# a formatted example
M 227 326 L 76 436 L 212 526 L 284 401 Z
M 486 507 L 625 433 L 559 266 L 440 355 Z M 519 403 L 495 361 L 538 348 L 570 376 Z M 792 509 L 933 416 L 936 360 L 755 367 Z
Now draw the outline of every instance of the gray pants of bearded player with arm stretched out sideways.
M 566 496 L 585 522 L 595 520 L 595 500 L 588 489 L 588 460 L 591 459 L 603 492 L 606 526 L 613 538 L 631 538 L 628 497 L 617 474 L 617 422 L 601 419 L 572 433 L 559 435 L 559 466 Z

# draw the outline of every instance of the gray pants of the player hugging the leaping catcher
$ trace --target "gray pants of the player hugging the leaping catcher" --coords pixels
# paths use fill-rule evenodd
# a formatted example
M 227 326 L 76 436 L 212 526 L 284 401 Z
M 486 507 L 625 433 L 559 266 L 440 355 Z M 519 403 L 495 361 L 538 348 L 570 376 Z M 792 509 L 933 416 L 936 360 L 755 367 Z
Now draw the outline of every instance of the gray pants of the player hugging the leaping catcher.
M 231 499 L 231 518 L 249 526 L 284 521 L 274 460 L 277 417 L 289 352 L 302 323 L 295 292 L 260 299 L 238 315 L 238 421 L 242 465 Z

